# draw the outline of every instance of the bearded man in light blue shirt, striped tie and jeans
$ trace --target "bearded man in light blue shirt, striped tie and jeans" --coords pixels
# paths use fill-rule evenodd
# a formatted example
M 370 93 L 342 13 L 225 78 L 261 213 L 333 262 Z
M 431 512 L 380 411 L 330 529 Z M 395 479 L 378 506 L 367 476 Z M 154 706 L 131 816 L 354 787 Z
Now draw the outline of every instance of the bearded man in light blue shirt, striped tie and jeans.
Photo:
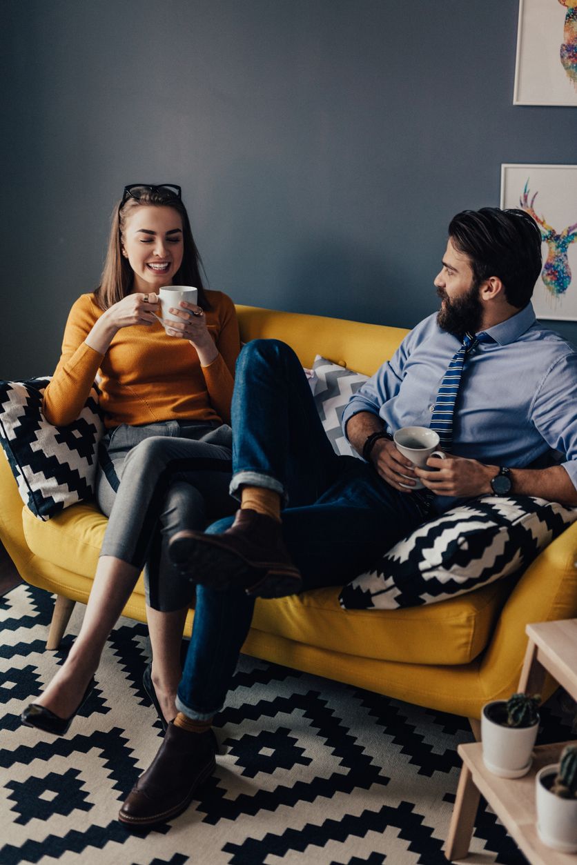
M 459 500 L 577 504 L 577 352 L 535 321 L 529 301 L 541 266 L 541 234 L 523 211 L 483 208 L 452 220 L 434 281 L 439 314 L 408 334 L 343 413 L 362 459 L 332 451 L 292 349 L 255 340 L 243 350 L 231 484 L 240 510 L 230 528 L 221 521 L 173 539 L 172 561 L 199 584 L 194 630 L 179 713 L 123 805 L 123 823 L 175 817 L 213 771 L 210 724 L 255 597 L 342 585 Z M 419 469 L 401 456 L 392 433 L 413 425 L 439 430 L 445 459 Z M 411 489 L 416 478 L 424 490 Z

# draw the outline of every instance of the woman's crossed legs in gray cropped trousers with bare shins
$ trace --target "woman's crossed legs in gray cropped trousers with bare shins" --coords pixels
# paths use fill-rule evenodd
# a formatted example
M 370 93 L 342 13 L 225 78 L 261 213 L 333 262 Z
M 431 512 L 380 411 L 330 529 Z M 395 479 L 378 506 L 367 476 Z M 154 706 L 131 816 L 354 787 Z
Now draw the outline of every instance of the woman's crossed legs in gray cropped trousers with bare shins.
M 165 721 L 175 716 L 183 624 L 194 586 L 170 566 L 166 550 L 183 525 L 200 528 L 210 516 L 233 509 L 229 477 L 230 449 L 224 445 L 154 436 L 129 452 L 80 634 L 36 706 L 61 719 L 74 714 L 146 562 L 152 681 Z

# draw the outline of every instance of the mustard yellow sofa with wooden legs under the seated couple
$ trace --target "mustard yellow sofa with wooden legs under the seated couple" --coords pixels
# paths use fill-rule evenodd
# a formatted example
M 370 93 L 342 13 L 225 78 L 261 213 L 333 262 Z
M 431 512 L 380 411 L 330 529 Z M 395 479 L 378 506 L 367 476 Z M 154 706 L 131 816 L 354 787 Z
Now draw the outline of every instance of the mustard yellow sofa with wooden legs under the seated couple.
M 406 330 L 238 306 L 240 332 L 285 340 L 311 367 L 317 354 L 371 375 Z M 48 648 L 75 601 L 86 603 L 106 517 L 77 504 L 48 522 L 22 507 L 0 457 L 0 539 L 22 578 L 56 593 Z M 516 585 L 510 580 L 431 606 L 343 611 L 339 587 L 257 602 L 244 651 L 421 706 L 478 719 L 484 702 L 516 689 L 525 625 L 577 616 L 577 523 L 551 543 Z M 142 578 L 125 615 L 145 620 Z M 187 632 L 194 612 L 190 611 Z M 548 692 L 552 689 L 548 685 Z

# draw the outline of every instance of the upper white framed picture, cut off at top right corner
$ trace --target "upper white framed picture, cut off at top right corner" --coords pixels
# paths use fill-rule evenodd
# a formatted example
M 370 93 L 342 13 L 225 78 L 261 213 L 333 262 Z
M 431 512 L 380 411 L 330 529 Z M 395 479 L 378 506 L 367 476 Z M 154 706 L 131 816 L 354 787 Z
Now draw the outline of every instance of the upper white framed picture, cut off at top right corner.
M 519 0 L 516 106 L 577 106 L 577 0 Z

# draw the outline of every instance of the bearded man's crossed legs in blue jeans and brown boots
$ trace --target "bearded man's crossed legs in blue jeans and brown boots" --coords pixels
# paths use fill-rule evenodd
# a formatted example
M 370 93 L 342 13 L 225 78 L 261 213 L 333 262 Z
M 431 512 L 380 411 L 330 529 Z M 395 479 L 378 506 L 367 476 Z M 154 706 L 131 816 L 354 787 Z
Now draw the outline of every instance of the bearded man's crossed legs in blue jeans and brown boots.
M 192 567 L 201 584 L 195 622 L 176 696 L 179 714 L 120 810 L 125 823 L 159 823 L 167 807 L 176 816 L 212 772 L 214 753 L 206 753 L 206 740 L 184 732 L 186 722 L 208 724 L 223 705 L 254 596 L 263 587 L 267 596 L 280 593 L 279 574 L 298 573 L 297 591 L 342 584 L 424 517 L 416 500 L 383 484 L 368 465 L 332 452 L 298 358 L 283 343 L 256 340 L 241 352 L 233 424 L 232 489 L 240 491 L 241 509 L 232 527 L 221 520 L 206 533 L 184 529 L 171 541 L 173 561 L 184 573 Z M 293 505 L 282 523 L 281 500 Z

